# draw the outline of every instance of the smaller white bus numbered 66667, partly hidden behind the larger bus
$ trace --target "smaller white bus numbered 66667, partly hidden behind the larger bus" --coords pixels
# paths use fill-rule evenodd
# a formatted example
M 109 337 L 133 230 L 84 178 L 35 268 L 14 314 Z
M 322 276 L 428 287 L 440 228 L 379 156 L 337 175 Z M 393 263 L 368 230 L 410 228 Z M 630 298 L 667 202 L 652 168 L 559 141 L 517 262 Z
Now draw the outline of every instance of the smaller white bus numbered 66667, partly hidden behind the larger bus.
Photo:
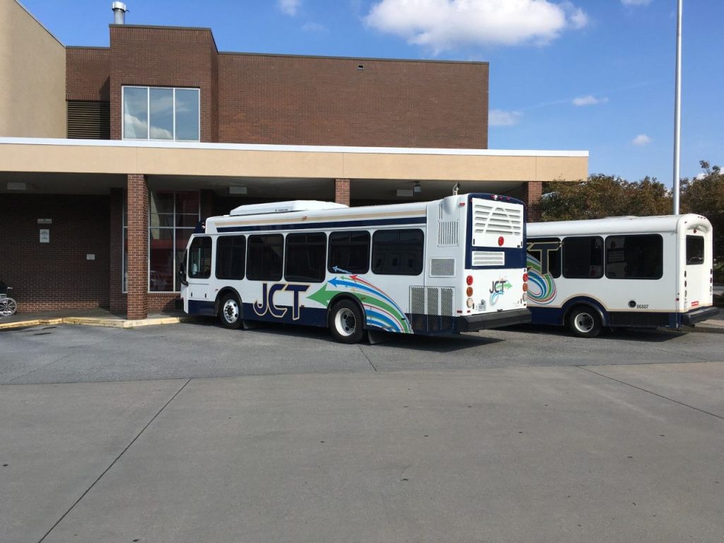
M 712 307 L 712 225 L 686 214 L 528 224 L 534 324 L 681 329 Z

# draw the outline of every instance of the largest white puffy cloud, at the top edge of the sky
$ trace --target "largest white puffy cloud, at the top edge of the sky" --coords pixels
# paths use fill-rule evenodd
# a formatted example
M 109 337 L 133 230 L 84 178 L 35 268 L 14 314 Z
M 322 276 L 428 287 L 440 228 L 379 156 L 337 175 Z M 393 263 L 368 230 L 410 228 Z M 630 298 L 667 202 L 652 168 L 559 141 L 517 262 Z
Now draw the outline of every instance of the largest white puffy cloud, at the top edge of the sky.
M 583 28 L 588 17 L 570 1 L 379 0 L 365 21 L 439 53 L 466 45 L 542 45 Z

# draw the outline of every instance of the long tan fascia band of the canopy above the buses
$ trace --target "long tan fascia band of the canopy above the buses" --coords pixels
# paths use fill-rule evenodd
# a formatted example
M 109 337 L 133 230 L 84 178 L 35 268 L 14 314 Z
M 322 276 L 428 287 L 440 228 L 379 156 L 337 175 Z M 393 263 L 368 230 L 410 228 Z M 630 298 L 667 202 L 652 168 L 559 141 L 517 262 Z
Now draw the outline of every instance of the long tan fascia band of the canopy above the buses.
M 494 151 L 489 151 L 494 153 Z M 0 144 L 1 170 L 232 177 L 459 181 L 573 181 L 587 156 L 256 151 L 93 145 Z

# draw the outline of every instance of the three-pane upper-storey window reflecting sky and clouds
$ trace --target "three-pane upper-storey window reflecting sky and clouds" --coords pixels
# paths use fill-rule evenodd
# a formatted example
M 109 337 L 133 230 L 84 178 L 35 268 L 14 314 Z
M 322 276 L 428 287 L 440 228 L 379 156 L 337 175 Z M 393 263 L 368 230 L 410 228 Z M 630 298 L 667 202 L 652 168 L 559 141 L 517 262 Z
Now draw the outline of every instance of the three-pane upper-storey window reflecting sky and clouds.
M 198 88 L 122 88 L 124 140 L 199 141 Z

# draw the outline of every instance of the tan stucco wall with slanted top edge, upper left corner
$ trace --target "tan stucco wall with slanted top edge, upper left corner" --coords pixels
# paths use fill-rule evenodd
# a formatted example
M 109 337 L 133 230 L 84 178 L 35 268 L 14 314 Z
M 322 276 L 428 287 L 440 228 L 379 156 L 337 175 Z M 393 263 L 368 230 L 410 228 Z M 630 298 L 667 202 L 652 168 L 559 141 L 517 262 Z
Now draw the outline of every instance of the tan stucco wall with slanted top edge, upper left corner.
M 0 0 L 0 137 L 65 138 L 66 109 L 64 46 L 17 1 Z

